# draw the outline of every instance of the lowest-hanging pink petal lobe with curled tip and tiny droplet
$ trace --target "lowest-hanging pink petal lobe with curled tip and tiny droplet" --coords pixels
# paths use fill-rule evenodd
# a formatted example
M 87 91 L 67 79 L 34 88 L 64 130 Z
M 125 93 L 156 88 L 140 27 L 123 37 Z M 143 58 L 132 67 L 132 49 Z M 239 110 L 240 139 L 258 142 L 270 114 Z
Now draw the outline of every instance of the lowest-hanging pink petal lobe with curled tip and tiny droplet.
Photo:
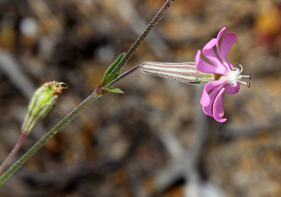
M 224 115 L 224 110 L 223 110 L 223 104 L 222 104 L 222 99 L 221 95 L 225 91 L 225 88 L 222 88 L 220 92 L 217 94 L 217 98 L 214 101 L 213 105 L 213 117 L 215 118 L 216 121 L 218 122 L 225 122 L 227 119 L 222 118 Z

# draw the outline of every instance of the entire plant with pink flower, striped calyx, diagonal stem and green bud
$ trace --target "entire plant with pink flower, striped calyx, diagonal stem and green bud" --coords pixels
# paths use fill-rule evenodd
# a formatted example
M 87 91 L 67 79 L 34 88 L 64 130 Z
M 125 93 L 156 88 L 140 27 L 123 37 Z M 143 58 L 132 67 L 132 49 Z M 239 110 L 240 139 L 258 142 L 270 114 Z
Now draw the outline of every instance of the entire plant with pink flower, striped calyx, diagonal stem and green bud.
M 231 46 L 236 41 L 234 33 L 227 33 L 221 40 L 221 37 L 226 33 L 226 27 L 219 31 L 217 38 L 213 38 L 202 49 L 203 55 L 211 63 L 207 63 L 201 58 L 201 50 L 198 50 L 195 56 L 195 62 L 184 63 L 161 63 L 146 61 L 141 65 L 137 65 L 131 70 L 120 75 L 120 72 L 131 55 L 149 34 L 150 30 L 161 19 L 164 13 L 176 0 L 167 0 L 164 6 L 160 9 L 154 19 L 146 27 L 145 31 L 136 40 L 128 52 L 122 53 L 117 57 L 115 62 L 109 66 L 105 72 L 101 84 L 88 96 L 82 103 L 80 103 L 71 113 L 63 118 L 55 127 L 53 127 L 47 134 L 40 139 L 29 151 L 27 151 L 16 163 L 14 163 L 2 176 L 0 177 L 0 185 L 7 180 L 14 172 L 16 172 L 26 161 L 30 158 L 40 147 L 42 147 L 51 137 L 53 137 L 62 127 L 73 120 L 83 109 L 89 104 L 93 103 L 96 99 L 103 96 L 107 92 L 123 93 L 120 89 L 113 87 L 119 80 L 131 74 L 135 70 L 141 69 L 145 74 L 151 74 L 168 79 L 175 79 L 186 84 L 206 84 L 203 89 L 202 97 L 200 100 L 205 114 L 211 116 L 218 122 L 225 122 L 222 97 L 221 95 L 226 92 L 228 94 L 236 94 L 240 89 L 240 83 L 250 87 L 249 82 L 244 82 L 242 77 L 249 77 L 251 75 L 241 75 L 243 67 L 239 64 L 239 68 L 234 68 L 233 65 L 226 61 L 226 55 Z M 218 56 L 215 54 L 213 48 L 216 48 Z M 46 82 L 40 86 L 31 97 L 28 104 L 28 111 L 26 118 L 21 127 L 21 136 L 7 159 L 0 166 L 0 172 L 6 167 L 8 162 L 15 155 L 24 139 L 33 127 L 42 118 L 45 118 L 48 113 L 54 108 L 58 99 L 58 94 L 63 89 L 67 89 L 67 84 L 63 82 Z

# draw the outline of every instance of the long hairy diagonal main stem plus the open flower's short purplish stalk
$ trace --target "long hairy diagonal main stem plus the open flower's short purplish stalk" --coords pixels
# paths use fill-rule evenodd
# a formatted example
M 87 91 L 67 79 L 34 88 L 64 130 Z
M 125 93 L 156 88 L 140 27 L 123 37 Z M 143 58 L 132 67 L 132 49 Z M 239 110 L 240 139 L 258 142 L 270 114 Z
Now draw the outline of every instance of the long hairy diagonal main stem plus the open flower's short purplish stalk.
M 156 25 L 156 23 L 161 19 L 164 13 L 169 9 L 169 7 L 176 0 L 167 0 L 161 10 L 157 13 L 157 15 L 153 18 L 150 24 L 146 27 L 145 31 L 141 34 L 141 36 L 136 40 L 131 49 L 126 53 L 121 62 L 117 65 L 117 67 L 112 71 L 112 73 L 118 73 L 119 70 L 126 64 L 126 62 L 130 59 L 131 55 L 135 52 L 135 50 L 140 46 L 141 42 L 145 39 L 145 37 L 149 34 L 150 30 Z M 137 70 L 139 67 L 131 69 L 133 71 Z M 134 70 L 135 69 L 135 70 Z M 133 72 L 132 71 L 132 72 Z M 112 86 L 117 83 L 120 79 L 124 78 L 128 72 L 120 75 L 117 79 L 110 82 L 109 84 Z M 125 75 L 125 76 L 124 76 Z M 71 120 L 73 120 L 81 111 L 83 111 L 88 105 L 93 103 L 96 99 L 104 95 L 105 92 L 101 92 L 99 88 L 95 89 L 95 91 L 88 96 L 82 103 L 80 103 L 71 113 L 69 113 L 64 119 L 62 119 L 55 127 L 53 127 L 47 134 L 42 137 L 33 147 L 29 149 L 16 163 L 14 163 L 1 177 L 0 177 L 0 185 L 2 185 L 13 173 L 15 173 L 27 160 L 31 157 L 37 150 L 39 150 L 51 137 L 53 137 L 60 129 L 62 129 L 66 124 L 68 124 Z

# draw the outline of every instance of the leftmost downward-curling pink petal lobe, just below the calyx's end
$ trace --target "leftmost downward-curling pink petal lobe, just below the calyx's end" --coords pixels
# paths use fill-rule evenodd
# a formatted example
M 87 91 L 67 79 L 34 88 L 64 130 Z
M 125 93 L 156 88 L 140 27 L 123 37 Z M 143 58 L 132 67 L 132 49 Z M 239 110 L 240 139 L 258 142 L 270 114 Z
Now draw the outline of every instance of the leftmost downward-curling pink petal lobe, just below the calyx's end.
M 221 79 L 221 80 L 208 82 L 204 86 L 204 89 L 203 89 L 203 92 L 202 92 L 202 96 L 201 96 L 201 99 L 200 99 L 201 105 L 208 106 L 208 105 L 210 105 L 210 103 L 212 104 L 210 95 L 212 93 L 215 94 L 216 91 L 218 92 L 219 90 L 217 90 L 216 88 L 219 88 L 219 87 L 222 88 L 223 86 L 226 85 L 226 83 L 227 83 L 227 79 Z M 208 92 L 210 92 L 211 90 L 212 90 L 212 92 L 210 94 L 208 94 Z

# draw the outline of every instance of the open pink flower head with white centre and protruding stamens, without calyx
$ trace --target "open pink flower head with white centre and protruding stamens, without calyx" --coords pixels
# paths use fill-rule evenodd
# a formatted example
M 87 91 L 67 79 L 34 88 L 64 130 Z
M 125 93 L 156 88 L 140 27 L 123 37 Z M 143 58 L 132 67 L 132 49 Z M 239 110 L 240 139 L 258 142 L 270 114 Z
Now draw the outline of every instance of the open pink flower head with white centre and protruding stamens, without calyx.
M 247 76 L 240 74 L 243 70 L 241 65 L 241 70 L 239 70 L 239 68 L 233 68 L 232 64 L 226 61 L 226 55 L 231 46 L 235 43 L 236 35 L 234 33 L 227 33 L 222 38 L 221 48 L 219 48 L 219 40 L 225 32 L 226 27 L 221 29 L 217 38 L 213 38 L 202 49 L 203 54 L 212 65 L 202 60 L 200 57 L 200 50 L 198 50 L 195 57 L 197 70 L 203 73 L 212 74 L 212 81 L 205 85 L 200 100 L 200 103 L 203 106 L 203 111 L 221 123 L 226 121 L 226 118 L 223 118 L 224 110 L 221 99 L 222 93 L 236 94 L 240 89 L 239 83 L 246 84 L 247 87 L 250 87 L 249 82 L 246 83 L 240 79 L 242 77 L 249 77 L 251 79 L 250 74 Z M 213 50 L 214 46 L 217 46 L 217 53 L 221 60 L 219 60 L 215 54 Z

